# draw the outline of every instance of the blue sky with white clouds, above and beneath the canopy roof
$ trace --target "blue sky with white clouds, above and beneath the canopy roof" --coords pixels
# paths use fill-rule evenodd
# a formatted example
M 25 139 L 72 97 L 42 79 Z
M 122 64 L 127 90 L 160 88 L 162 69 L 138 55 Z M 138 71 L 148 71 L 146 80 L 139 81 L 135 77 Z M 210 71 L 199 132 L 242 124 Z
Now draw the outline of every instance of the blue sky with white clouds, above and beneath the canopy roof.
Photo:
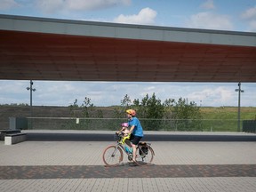
M 0 14 L 68 20 L 256 32 L 256 0 L 0 0 Z M 0 80 L 0 104 L 28 103 L 29 81 Z M 237 83 L 34 81 L 33 105 L 68 106 L 84 97 L 95 106 L 156 98 L 195 101 L 199 106 L 237 106 Z M 256 106 L 256 83 L 243 83 L 241 106 Z

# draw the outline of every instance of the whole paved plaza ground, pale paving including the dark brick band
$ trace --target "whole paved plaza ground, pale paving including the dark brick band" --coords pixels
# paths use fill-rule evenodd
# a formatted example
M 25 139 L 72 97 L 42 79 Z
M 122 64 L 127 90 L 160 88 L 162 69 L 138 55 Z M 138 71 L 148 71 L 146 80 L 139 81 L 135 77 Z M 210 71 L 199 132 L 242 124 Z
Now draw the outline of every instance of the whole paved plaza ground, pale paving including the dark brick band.
M 146 132 L 146 135 L 156 135 L 156 138 L 160 138 L 150 140 L 151 137 L 148 137 L 156 153 L 153 164 L 134 166 L 129 164 L 124 156 L 123 164 L 105 167 L 102 152 L 108 145 L 115 144 L 111 141 L 114 132 L 27 132 L 28 140 L 25 142 L 5 146 L 4 141 L 0 141 L 1 192 L 254 192 L 256 188 L 256 141 L 253 141 L 255 134 Z M 44 137 L 36 138 L 35 133 L 44 133 Z M 58 135 L 56 140 L 50 133 Z M 65 140 L 60 140 L 61 134 L 66 134 Z M 105 140 L 95 141 L 100 134 Z M 173 135 L 187 135 L 188 141 L 185 141 L 184 137 L 182 141 L 177 138 L 175 141 L 166 138 L 163 140 L 163 135 L 170 135 L 170 138 Z M 205 138 L 211 135 L 229 138 L 226 137 L 226 141 L 205 141 Z M 236 141 L 240 140 L 237 138 L 240 136 L 248 136 L 248 141 Z M 191 141 L 191 138 L 196 138 L 196 141 Z M 199 141 L 198 138 L 204 141 Z

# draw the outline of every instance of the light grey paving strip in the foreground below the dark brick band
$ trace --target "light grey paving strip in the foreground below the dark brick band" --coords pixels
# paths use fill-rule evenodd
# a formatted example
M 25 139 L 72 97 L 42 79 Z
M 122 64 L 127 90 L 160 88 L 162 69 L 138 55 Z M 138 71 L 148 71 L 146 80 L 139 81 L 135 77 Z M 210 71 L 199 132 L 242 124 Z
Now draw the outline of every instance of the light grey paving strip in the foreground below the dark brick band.
M 1 192 L 43 191 L 183 191 L 183 192 L 254 192 L 255 177 L 218 178 L 104 178 L 104 179 L 51 179 L 0 180 Z

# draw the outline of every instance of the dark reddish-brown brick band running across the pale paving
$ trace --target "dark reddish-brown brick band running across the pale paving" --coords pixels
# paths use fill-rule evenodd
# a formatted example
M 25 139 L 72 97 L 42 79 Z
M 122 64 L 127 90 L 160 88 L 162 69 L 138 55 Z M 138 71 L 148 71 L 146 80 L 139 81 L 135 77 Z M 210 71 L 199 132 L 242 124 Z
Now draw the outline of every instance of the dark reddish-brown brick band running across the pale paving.
M 0 180 L 256 177 L 256 164 L 0 166 Z

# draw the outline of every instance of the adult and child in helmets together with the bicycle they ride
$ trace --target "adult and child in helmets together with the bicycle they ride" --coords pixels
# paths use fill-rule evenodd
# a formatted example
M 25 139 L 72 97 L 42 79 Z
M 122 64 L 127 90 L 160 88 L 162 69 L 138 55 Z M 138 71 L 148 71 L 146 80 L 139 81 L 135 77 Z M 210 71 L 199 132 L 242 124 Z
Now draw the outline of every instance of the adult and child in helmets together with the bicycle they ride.
M 116 132 L 116 145 L 110 145 L 108 148 L 104 149 L 102 156 L 103 162 L 107 166 L 117 166 L 124 160 L 124 154 L 127 154 L 128 160 L 135 164 L 151 164 L 155 152 L 153 148 L 150 147 L 150 143 L 140 142 L 143 137 L 143 129 L 139 119 L 136 117 L 136 111 L 128 109 L 126 113 L 128 123 L 121 124 L 122 129 Z M 124 142 L 130 148 L 126 145 L 124 146 Z

